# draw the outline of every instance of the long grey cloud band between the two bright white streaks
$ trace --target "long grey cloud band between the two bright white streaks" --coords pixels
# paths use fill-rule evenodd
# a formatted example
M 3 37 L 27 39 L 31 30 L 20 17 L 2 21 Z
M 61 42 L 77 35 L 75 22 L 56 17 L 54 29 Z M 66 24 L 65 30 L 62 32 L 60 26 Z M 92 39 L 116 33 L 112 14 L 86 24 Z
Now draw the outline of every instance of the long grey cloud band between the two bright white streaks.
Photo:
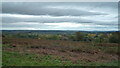
M 20 23 L 20 22 L 38 22 L 38 23 L 62 23 L 62 22 L 73 22 L 73 23 L 86 23 L 86 24 L 97 24 L 97 25 L 118 25 L 117 21 L 94 21 L 90 19 L 82 19 L 82 18 L 72 18 L 69 17 L 32 17 L 32 18 L 18 18 L 18 17 L 3 17 L 3 23 Z

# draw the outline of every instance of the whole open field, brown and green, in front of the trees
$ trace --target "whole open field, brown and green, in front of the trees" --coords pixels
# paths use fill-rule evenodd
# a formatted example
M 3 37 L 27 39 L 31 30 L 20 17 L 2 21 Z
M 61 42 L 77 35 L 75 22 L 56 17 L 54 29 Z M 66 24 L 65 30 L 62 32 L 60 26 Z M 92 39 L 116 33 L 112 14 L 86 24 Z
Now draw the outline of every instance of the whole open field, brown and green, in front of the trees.
M 3 38 L 3 66 L 118 66 L 118 44 Z

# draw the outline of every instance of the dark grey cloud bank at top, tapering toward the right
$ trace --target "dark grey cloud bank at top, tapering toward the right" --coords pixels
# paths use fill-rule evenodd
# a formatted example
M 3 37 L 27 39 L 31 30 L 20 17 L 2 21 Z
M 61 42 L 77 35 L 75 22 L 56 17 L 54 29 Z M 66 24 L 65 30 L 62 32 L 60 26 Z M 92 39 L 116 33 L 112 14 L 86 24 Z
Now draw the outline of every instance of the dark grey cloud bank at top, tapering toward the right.
M 85 3 L 87 5 L 87 3 Z M 27 15 L 52 15 L 52 16 L 89 16 L 89 15 L 106 15 L 107 13 L 89 12 L 76 9 L 58 9 L 49 8 L 49 6 L 77 6 L 81 7 L 82 3 L 3 3 L 2 12 L 12 14 L 27 14 Z M 93 5 L 93 4 L 89 4 Z M 46 7 L 48 6 L 48 7 Z M 101 5 L 102 6 L 102 5 Z M 100 6 L 99 6 L 100 7 Z M 71 7 L 72 8 L 72 7 Z M 93 7 L 95 8 L 95 7 Z

